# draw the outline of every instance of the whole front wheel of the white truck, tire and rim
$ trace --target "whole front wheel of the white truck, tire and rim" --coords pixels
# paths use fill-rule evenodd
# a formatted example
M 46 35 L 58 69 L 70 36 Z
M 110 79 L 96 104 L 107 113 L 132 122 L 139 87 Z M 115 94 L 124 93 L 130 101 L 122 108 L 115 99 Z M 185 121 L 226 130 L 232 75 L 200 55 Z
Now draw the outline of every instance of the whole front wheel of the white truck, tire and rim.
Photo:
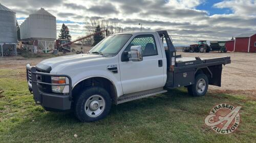
M 75 115 L 81 122 L 94 122 L 105 118 L 111 108 L 111 97 L 101 87 L 90 87 L 75 100 Z

